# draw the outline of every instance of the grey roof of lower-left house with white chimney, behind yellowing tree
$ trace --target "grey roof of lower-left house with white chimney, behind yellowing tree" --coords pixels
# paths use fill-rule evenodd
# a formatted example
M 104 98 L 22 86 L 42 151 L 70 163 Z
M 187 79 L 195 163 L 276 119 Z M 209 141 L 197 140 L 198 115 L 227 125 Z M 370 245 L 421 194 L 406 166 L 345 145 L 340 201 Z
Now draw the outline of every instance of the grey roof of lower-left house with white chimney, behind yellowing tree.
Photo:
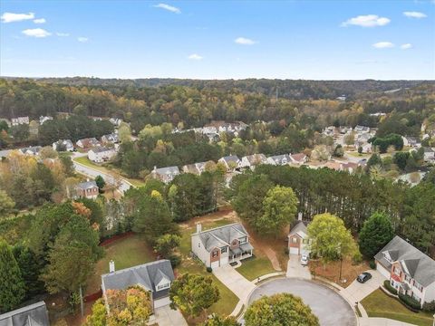
M 156 292 L 156 285 L 163 279 L 169 282 L 175 279 L 172 266 L 167 259 L 102 274 L 102 291 L 124 290 L 133 285 L 140 285 L 148 291 Z M 158 296 L 164 295 L 165 292 L 168 290 L 160 292 Z M 156 294 L 153 294 L 153 297 L 156 299 Z

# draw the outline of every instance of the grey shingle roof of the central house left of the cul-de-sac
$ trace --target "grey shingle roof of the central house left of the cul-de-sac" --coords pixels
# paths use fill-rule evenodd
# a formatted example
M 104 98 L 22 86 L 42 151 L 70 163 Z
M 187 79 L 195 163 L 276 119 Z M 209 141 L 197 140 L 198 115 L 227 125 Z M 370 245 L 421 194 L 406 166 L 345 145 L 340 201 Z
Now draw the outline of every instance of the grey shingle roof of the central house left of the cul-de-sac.
M 235 223 L 200 231 L 193 235 L 198 235 L 204 248 L 210 252 L 215 247 L 230 245 L 232 240 L 247 236 L 247 230 L 240 223 Z

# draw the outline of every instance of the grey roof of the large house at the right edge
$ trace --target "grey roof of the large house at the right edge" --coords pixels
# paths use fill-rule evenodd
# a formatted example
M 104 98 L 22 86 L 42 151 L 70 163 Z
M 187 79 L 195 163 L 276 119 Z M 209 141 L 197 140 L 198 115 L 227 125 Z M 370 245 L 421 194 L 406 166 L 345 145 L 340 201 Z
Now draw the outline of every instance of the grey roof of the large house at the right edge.
M 422 286 L 435 282 L 435 261 L 419 249 L 396 235 L 374 256 L 386 268 L 391 268 L 391 263 L 385 255 L 391 257 L 391 262 L 399 262 L 405 273 L 408 273 Z

